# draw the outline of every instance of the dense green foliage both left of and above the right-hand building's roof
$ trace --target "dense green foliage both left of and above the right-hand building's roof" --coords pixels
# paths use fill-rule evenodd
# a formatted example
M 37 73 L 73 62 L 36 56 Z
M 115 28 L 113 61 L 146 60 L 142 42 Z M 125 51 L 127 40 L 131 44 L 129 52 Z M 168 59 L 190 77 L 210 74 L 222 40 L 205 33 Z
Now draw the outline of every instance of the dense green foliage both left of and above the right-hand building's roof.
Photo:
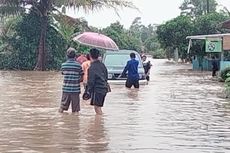
M 181 15 L 157 28 L 158 40 L 165 49 L 178 48 L 180 57 L 183 58 L 187 51 L 187 36 L 223 33 L 225 31 L 218 25 L 226 19 L 225 14 L 217 12 L 205 14 L 195 19 Z M 203 44 L 197 46 L 197 48 L 202 48 Z

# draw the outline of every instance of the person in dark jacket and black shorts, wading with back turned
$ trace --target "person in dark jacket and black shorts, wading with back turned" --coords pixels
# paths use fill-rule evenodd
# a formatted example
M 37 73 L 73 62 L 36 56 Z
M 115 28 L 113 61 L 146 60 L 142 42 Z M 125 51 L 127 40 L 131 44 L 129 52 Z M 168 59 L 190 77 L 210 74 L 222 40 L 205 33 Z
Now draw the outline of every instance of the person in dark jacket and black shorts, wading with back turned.
M 91 95 L 91 105 L 94 106 L 97 115 L 102 115 L 101 108 L 104 105 L 105 97 L 108 91 L 108 71 L 105 65 L 99 61 L 99 50 L 91 49 L 91 65 L 88 71 L 87 89 Z

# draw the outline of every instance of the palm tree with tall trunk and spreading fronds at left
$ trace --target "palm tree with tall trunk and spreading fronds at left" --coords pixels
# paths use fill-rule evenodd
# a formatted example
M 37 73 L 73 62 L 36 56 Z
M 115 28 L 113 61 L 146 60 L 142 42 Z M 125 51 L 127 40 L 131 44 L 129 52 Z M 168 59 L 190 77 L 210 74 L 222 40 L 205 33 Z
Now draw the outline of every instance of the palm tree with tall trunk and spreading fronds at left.
M 131 2 L 126 0 L 0 0 L 0 15 L 3 17 L 20 15 L 31 8 L 39 14 L 42 24 L 35 70 L 45 70 L 47 53 L 45 40 L 49 24 L 49 15 L 52 15 L 54 11 L 58 11 L 58 8 L 61 7 L 74 9 L 83 8 L 85 11 L 93 11 L 107 7 L 113 8 L 117 12 L 118 6 L 135 8 Z

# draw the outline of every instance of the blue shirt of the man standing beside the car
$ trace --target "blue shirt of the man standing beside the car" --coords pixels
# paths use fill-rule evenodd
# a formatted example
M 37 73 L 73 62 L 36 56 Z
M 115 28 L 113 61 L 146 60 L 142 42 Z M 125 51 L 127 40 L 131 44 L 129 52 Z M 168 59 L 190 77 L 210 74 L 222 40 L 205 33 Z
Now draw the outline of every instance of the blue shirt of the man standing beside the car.
M 128 79 L 139 80 L 138 65 L 139 65 L 138 60 L 136 60 L 134 58 L 129 60 L 125 66 L 125 69 L 122 73 L 122 76 L 125 76 L 125 73 L 128 71 Z

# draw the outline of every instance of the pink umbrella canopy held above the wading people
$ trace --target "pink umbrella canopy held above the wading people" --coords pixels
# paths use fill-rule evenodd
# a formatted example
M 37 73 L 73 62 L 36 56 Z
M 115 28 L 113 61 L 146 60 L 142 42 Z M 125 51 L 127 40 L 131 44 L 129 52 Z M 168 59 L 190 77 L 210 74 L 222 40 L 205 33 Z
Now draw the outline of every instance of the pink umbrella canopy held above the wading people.
M 84 32 L 74 37 L 73 40 L 86 46 L 107 50 L 119 50 L 118 46 L 111 38 L 95 32 Z

